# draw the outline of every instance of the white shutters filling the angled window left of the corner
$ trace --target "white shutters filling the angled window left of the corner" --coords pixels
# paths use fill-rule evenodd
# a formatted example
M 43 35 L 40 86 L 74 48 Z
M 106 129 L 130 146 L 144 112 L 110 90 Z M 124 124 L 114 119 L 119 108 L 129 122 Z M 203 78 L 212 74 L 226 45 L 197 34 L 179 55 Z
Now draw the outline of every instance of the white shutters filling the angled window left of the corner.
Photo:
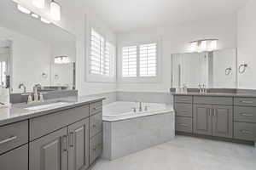
M 99 33 L 91 29 L 90 33 L 90 74 L 113 77 L 114 46 L 105 41 Z

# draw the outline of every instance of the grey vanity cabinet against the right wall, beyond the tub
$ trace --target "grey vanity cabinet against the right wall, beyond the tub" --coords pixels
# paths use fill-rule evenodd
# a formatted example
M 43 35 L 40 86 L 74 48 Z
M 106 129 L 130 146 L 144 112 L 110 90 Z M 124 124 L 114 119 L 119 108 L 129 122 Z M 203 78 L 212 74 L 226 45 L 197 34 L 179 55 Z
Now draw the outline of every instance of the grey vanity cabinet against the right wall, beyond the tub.
M 256 96 L 174 93 L 177 133 L 256 144 Z

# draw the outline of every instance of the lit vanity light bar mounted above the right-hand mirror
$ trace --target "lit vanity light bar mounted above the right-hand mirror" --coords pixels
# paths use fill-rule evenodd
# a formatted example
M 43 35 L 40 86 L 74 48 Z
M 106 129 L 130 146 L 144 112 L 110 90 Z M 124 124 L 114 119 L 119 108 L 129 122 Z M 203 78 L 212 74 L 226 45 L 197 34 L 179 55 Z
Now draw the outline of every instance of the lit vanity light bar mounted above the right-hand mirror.
M 217 49 L 218 39 L 203 39 L 197 40 L 190 43 L 191 52 L 204 52 L 204 51 L 213 51 Z

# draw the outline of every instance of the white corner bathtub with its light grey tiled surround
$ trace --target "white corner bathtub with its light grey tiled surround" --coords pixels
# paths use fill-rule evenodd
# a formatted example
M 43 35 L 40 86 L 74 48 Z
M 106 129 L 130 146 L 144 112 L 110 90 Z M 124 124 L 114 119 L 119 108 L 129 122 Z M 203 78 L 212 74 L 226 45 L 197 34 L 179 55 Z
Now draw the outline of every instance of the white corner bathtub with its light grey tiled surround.
M 137 113 L 132 112 L 134 105 L 114 102 L 103 106 L 103 158 L 117 159 L 174 138 L 172 105 L 144 104 L 148 111 Z

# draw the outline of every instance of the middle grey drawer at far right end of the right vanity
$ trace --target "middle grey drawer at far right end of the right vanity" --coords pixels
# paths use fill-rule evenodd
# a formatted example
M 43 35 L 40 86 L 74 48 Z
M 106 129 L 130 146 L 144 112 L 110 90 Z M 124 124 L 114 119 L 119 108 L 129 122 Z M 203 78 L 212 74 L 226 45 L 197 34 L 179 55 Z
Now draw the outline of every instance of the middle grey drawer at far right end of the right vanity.
M 235 106 L 234 120 L 238 122 L 256 122 L 256 107 Z

